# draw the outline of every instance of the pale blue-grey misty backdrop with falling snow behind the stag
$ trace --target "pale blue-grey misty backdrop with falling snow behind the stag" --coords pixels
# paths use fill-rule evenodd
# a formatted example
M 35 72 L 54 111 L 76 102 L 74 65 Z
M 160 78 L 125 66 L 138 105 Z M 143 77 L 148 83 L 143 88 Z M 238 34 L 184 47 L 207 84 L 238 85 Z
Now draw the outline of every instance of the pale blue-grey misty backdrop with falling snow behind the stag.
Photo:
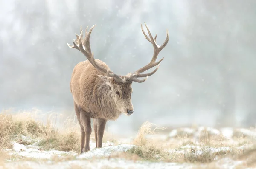
M 70 49 L 80 25 L 93 29 L 91 49 L 119 75 L 153 55 L 147 23 L 165 59 L 153 76 L 133 83 L 134 114 L 107 123 L 111 132 L 191 124 L 250 127 L 256 121 L 255 0 L 0 1 L 0 109 L 75 115 L 69 83 L 86 60 Z M 144 26 L 145 28 L 145 26 Z

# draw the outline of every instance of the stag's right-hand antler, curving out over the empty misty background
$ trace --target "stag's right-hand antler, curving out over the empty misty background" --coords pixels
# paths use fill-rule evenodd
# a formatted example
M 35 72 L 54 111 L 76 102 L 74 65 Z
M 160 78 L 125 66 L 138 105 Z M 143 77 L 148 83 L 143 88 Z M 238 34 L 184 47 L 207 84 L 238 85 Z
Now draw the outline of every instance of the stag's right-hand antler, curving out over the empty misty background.
M 157 34 L 153 38 L 151 33 L 150 33 L 150 31 L 149 31 L 149 29 L 148 29 L 148 26 L 146 25 L 146 23 L 145 23 L 145 26 L 146 26 L 146 28 L 148 30 L 149 38 L 146 35 L 145 31 L 143 30 L 142 24 L 141 24 L 141 30 L 142 30 L 145 38 L 153 45 L 153 47 L 154 47 L 154 54 L 153 54 L 153 57 L 152 57 L 151 61 L 148 63 L 148 65 L 145 65 L 143 68 L 138 69 L 134 73 L 129 73 L 128 75 L 126 75 L 126 79 L 128 81 L 130 81 L 130 82 L 132 82 L 132 81 L 139 82 L 139 83 L 145 82 L 145 80 L 148 79 L 148 76 L 153 75 L 157 71 L 157 69 L 159 68 L 160 62 L 162 62 L 162 60 L 164 58 L 163 57 L 158 62 L 156 62 L 157 56 L 158 56 L 159 52 L 167 45 L 167 43 L 169 41 L 169 32 L 168 32 L 168 29 L 167 29 L 167 37 L 166 37 L 166 40 L 163 42 L 163 45 L 161 45 L 161 46 L 157 45 L 157 42 L 156 42 Z M 150 68 L 153 68 L 156 65 L 158 65 L 157 68 L 154 71 L 152 71 L 151 73 L 140 74 L 140 73 L 145 72 L 146 70 L 149 70 Z M 141 79 L 141 80 L 137 79 L 139 77 L 146 77 L 146 78 L 145 79 Z

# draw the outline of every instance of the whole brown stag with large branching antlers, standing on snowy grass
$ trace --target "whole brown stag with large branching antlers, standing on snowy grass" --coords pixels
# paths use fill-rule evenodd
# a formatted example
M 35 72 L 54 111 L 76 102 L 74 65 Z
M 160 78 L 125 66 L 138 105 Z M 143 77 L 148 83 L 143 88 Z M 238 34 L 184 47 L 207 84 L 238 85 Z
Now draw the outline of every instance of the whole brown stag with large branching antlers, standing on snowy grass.
M 76 34 L 73 45 L 67 43 L 70 48 L 79 50 L 87 58 L 87 60 L 79 62 L 73 68 L 70 81 L 70 92 L 73 96 L 74 109 L 80 125 L 81 154 L 90 151 L 91 119 L 93 121 L 96 148 L 101 148 L 107 121 L 116 120 L 122 113 L 128 116 L 134 113 L 131 101 L 131 93 L 133 92 L 132 82 L 145 82 L 148 76 L 156 73 L 160 62 L 164 59 L 163 57 L 156 62 L 157 56 L 169 41 L 168 29 L 166 29 L 167 36 L 163 44 L 157 45 L 157 34 L 153 38 L 145 23 L 148 37 L 141 24 L 141 30 L 145 39 L 154 47 L 152 59 L 147 65 L 133 73 L 128 73 L 125 76 L 117 75 L 110 70 L 105 62 L 94 59 L 90 48 L 90 34 L 95 26 L 96 24 L 90 28 L 89 32 L 87 26 L 85 37 L 83 37 L 82 27 L 80 27 L 80 35 Z M 155 66 L 157 68 L 152 72 L 143 73 Z

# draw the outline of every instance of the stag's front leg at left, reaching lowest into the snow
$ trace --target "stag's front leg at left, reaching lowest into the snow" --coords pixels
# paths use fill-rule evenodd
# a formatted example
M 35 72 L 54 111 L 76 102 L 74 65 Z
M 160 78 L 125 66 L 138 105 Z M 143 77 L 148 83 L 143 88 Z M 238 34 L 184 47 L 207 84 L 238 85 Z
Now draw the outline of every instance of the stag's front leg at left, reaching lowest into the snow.
M 83 152 L 87 152 L 90 150 L 90 135 L 92 133 L 90 113 L 81 111 L 80 119 L 85 132 L 85 146 Z

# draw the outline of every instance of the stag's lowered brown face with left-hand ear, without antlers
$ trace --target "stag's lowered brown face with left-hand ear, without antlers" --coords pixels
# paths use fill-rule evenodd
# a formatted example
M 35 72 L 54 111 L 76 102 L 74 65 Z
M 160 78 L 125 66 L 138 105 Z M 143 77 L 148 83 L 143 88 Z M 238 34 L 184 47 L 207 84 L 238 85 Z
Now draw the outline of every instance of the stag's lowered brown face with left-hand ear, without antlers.
M 125 115 L 133 114 L 133 105 L 131 103 L 131 83 L 117 83 L 114 78 L 98 75 L 110 88 L 111 99 L 116 103 L 119 110 Z

